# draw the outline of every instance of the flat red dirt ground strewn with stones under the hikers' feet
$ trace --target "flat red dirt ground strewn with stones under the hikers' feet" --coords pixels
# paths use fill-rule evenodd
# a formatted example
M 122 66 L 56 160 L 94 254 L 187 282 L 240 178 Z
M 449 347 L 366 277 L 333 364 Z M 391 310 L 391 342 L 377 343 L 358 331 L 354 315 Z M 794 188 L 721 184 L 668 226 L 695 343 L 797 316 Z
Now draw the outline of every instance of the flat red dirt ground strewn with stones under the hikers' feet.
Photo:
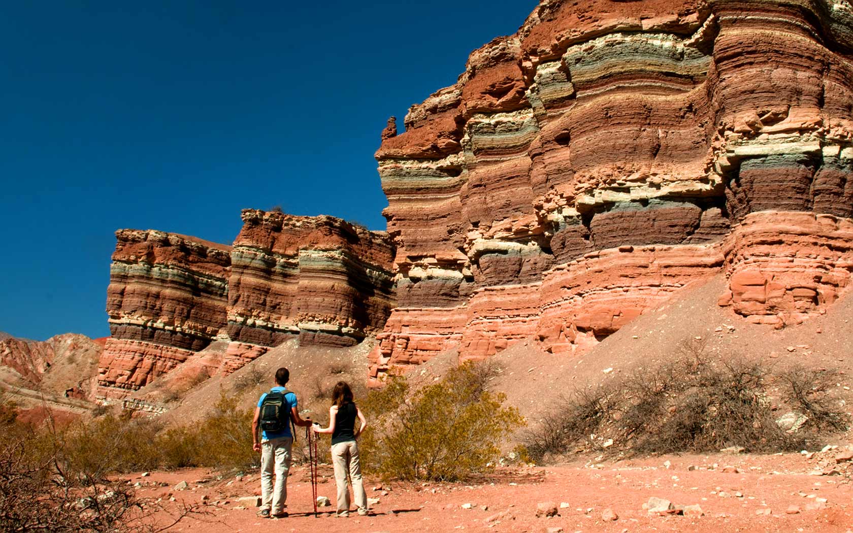
M 827 452 L 830 454 L 831 452 Z M 245 503 L 236 498 L 252 495 L 259 489 L 258 472 L 236 481 L 217 479 L 216 472 L 194 469 L 181 472 L 154 472 L 150 477 L 131 476 L 131 482 L 144 484 L 140 495 L 167 497 L 178 501 L 200 502 L 204 495 L 215 504 L 212 516 L 204 522 L 188 519 L 174 531 L 546 531 L 562 528 L 572 531 L 685 531 L 691 533 L 728 533 L 734 531 L 814 531 L 817 533 L 850 531 L 853 525 L 853 485 L 843 476 L 813 475 L 812 461 L 803 455 L 682 455 L 617 461 L 604 464 L 576 462 L 560 466 L 504 468 L 478 484 L 391 483 L 367 478 L 368 497 L 378 497 L 374 515 L 337 519 L 322 513 L 312 514 L 308 471 L 293 466 L 288 483 L 287 519 L 258 519 L 256 507 L 238 508 Z M 664 466 L 670 461 L 670 467 Z M 717 463 L 715 468 L 713 465 Z M 689 471 L 689 466 L 697 469 Z M 735 466 L 740 472 L 723 472 Z M 331 468 L 321 466 L 326 478 L 319 494 L 334 505 L 334 478 Z M 180 481 L 189 490 L 172 487 Z M 198 483 L 203 481 L 203 483 Z M 230 482 L 230 484 L 229 484 Z M 167 486 L 151 486 L 167 484 Z M 384 486 L 386 495 L 381 495 Z M 719 495 L 720 492 L 728 496 Z M 738 497 L 736 494 L 741 494 Z M 678 505 L 699 504 L 705 515 L 650 516 L 642 508 L 650 496 L 659 496 Z M 820 498 L 826 503 L 821 504 Z M 537 502 L 554 501 L 560 515 L 535 517 Z M 471 509 L 461 506 L 471 503 Z M 482 508 L 485 506 L 485 508 Z M 790 506 L 800 512 L 787 514 Z M 611 508 L 618 514 L 615 522 L 604 522 L 601 513 Z M 809 508 L 823 507 L 823 508 Z M 333 507 L 325 507 L 330 510 Z M 771 514 L 758 515 L 769 508 Z M 501 513 L 504 513 L 501 515 Z M 494 519 L 496 515 L 499 518 Z M 490 519 L 491 518 L 491 519 Z

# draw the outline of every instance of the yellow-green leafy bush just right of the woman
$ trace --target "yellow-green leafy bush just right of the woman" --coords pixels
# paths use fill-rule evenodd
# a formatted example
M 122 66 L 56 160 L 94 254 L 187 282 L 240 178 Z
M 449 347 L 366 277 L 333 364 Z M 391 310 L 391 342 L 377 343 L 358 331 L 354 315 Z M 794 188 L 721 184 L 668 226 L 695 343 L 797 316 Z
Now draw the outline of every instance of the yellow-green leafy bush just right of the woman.
M 388 478 L 441 481 L 489 468 L 523 420 L 502 394 L 485 390 L 479 372 L 466 363 L 411 394 L 404 378 L 371 392 L 363 409 L 375 426 L 359 444 L 365 462 Z

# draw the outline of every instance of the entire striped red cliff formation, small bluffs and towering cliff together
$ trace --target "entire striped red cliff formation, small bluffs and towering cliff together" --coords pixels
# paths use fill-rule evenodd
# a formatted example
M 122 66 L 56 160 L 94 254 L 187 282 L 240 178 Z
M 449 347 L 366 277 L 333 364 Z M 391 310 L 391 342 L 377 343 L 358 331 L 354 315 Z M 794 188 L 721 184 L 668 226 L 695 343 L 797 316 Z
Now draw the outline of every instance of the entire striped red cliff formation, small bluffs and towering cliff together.
M 212 340 L 376 335 L 371 378 L 519 339 L 579 355 L 688 285 L 784 327 L 853 272 L 853 6 L 544 0 L 390 119 L 387 234 L 243 211 L 233 246 L 119 230 L 102 396 Z

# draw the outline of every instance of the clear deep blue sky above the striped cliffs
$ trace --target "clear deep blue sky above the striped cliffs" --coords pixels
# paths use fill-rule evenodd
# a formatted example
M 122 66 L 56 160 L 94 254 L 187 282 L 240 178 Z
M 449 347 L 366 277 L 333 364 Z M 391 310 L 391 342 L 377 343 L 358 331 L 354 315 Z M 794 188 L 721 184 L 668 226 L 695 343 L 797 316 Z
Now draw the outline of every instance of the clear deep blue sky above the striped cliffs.
M 536 4 L 6 3 L 0 331 L 107 335 L 115 229 L 230 243 L 272 206 L 385 229 L 388 116 Z

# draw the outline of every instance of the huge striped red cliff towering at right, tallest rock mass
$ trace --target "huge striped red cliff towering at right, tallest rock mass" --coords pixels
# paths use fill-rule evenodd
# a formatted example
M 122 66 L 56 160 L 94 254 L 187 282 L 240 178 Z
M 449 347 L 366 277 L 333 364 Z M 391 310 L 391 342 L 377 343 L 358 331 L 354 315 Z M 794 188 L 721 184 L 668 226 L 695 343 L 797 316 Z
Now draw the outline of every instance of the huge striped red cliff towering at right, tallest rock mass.
M 584 351 L 720 272 L 751 322 L 820 312 L 853 271 L 851 47 L 848 0 L 540 3 L 383 134 L 372 376 Z

